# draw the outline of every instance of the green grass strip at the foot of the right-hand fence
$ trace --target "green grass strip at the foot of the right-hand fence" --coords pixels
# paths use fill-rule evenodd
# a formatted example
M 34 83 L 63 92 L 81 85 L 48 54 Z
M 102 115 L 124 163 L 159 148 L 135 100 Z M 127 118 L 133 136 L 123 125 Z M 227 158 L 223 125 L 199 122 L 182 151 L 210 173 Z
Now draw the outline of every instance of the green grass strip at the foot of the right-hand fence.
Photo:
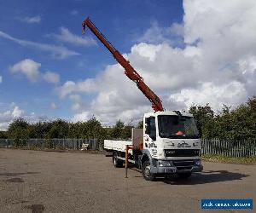
M 205 161 L 230 163 L 230 164 L 256 164 L 256 157 L 250 158 L 234 158 L 224 155 L 203 155 L 201 157 Z

